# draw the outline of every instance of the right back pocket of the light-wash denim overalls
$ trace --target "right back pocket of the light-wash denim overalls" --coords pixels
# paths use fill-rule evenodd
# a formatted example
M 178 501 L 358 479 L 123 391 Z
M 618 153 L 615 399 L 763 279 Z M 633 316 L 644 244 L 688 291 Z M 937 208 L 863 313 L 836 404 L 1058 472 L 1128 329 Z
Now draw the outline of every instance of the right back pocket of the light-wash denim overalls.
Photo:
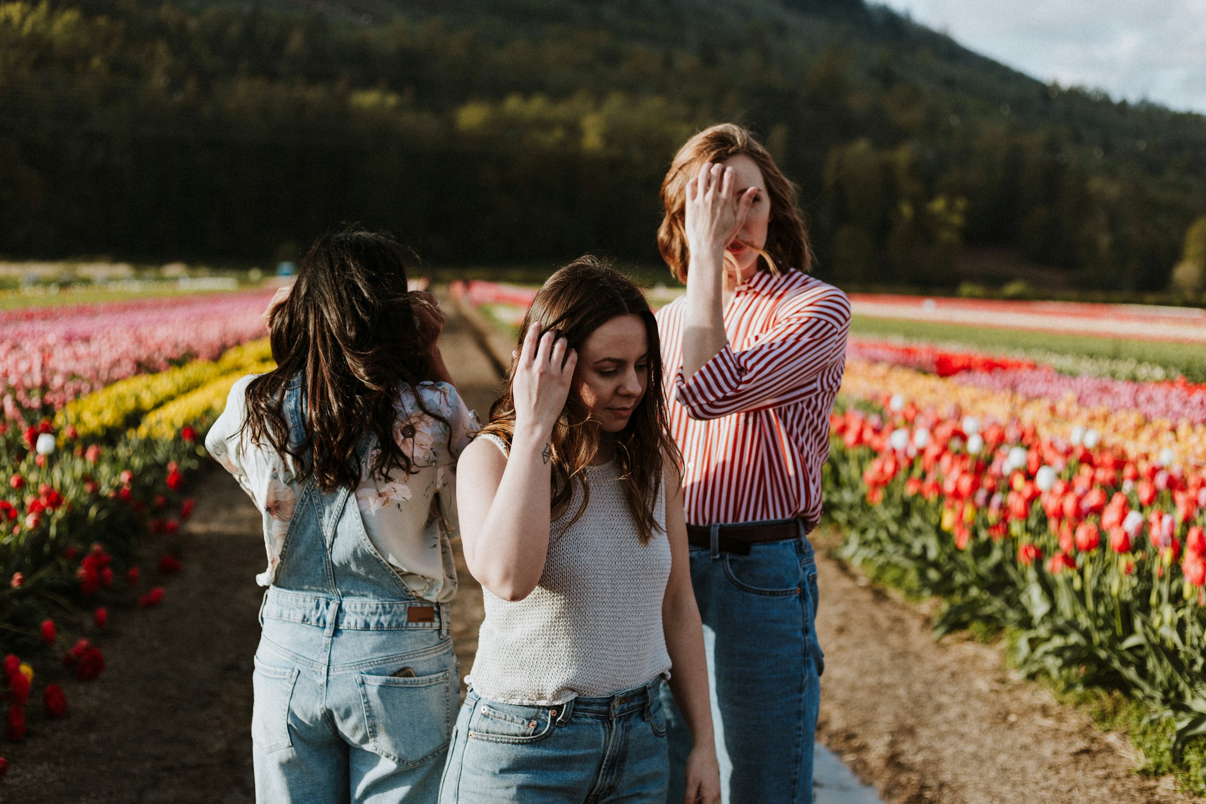
M 443 753 L 452 734 L 452 676 L 357 675 L 368 749 L 403 767 Z

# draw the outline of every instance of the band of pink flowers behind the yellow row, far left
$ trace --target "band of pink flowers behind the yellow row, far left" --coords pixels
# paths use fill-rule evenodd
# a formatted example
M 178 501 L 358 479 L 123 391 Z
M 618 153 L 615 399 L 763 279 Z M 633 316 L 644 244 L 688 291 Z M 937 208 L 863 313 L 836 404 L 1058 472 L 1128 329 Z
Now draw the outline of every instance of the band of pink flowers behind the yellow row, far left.
M 118 380 L 263 335 L 265 292 L 0 312 L 5 419 L 36 422 Z

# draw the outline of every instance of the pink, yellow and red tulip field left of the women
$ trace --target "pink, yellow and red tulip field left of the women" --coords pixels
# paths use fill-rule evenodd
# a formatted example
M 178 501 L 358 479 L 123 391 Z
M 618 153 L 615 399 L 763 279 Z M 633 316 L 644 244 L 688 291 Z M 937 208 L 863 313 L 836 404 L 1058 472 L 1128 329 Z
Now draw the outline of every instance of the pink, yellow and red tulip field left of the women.
M 269 297 L 0 312 L 0 691 L 10 740 L 62 717 L 64 686 L 104 671 L 115 618 L 168 593 L 164 576 L 182 567 L 172 534 L 193 510 L 199 436 L 238 377 L 273 365 L 260 321 Z M 6 767 L 0 759 L 0 775 Z

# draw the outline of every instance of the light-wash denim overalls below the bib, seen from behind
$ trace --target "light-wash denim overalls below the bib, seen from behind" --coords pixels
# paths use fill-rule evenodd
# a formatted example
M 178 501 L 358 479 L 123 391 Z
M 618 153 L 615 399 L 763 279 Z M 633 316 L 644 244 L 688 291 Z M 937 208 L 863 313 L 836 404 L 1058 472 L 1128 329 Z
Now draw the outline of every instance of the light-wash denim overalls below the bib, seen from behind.
M 438 621 L 406 624 L 402 603 L 306 597 L 274 588 L 264 604 L 257 800 L 434 804 L 459 698 L 452 640 Z

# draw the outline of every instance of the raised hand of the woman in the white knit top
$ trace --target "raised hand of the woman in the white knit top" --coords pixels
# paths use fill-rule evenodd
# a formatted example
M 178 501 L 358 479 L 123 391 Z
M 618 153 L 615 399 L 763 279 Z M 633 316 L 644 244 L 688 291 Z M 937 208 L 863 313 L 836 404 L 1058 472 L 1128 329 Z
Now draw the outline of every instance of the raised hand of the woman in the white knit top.
M 511 375 L 516 434 L 548 441 L 566 407 L 575 365 L 578 352 L 569 348 L 569 341 L 554 329 L 541 334 L 540 324 L 532 324 Z

